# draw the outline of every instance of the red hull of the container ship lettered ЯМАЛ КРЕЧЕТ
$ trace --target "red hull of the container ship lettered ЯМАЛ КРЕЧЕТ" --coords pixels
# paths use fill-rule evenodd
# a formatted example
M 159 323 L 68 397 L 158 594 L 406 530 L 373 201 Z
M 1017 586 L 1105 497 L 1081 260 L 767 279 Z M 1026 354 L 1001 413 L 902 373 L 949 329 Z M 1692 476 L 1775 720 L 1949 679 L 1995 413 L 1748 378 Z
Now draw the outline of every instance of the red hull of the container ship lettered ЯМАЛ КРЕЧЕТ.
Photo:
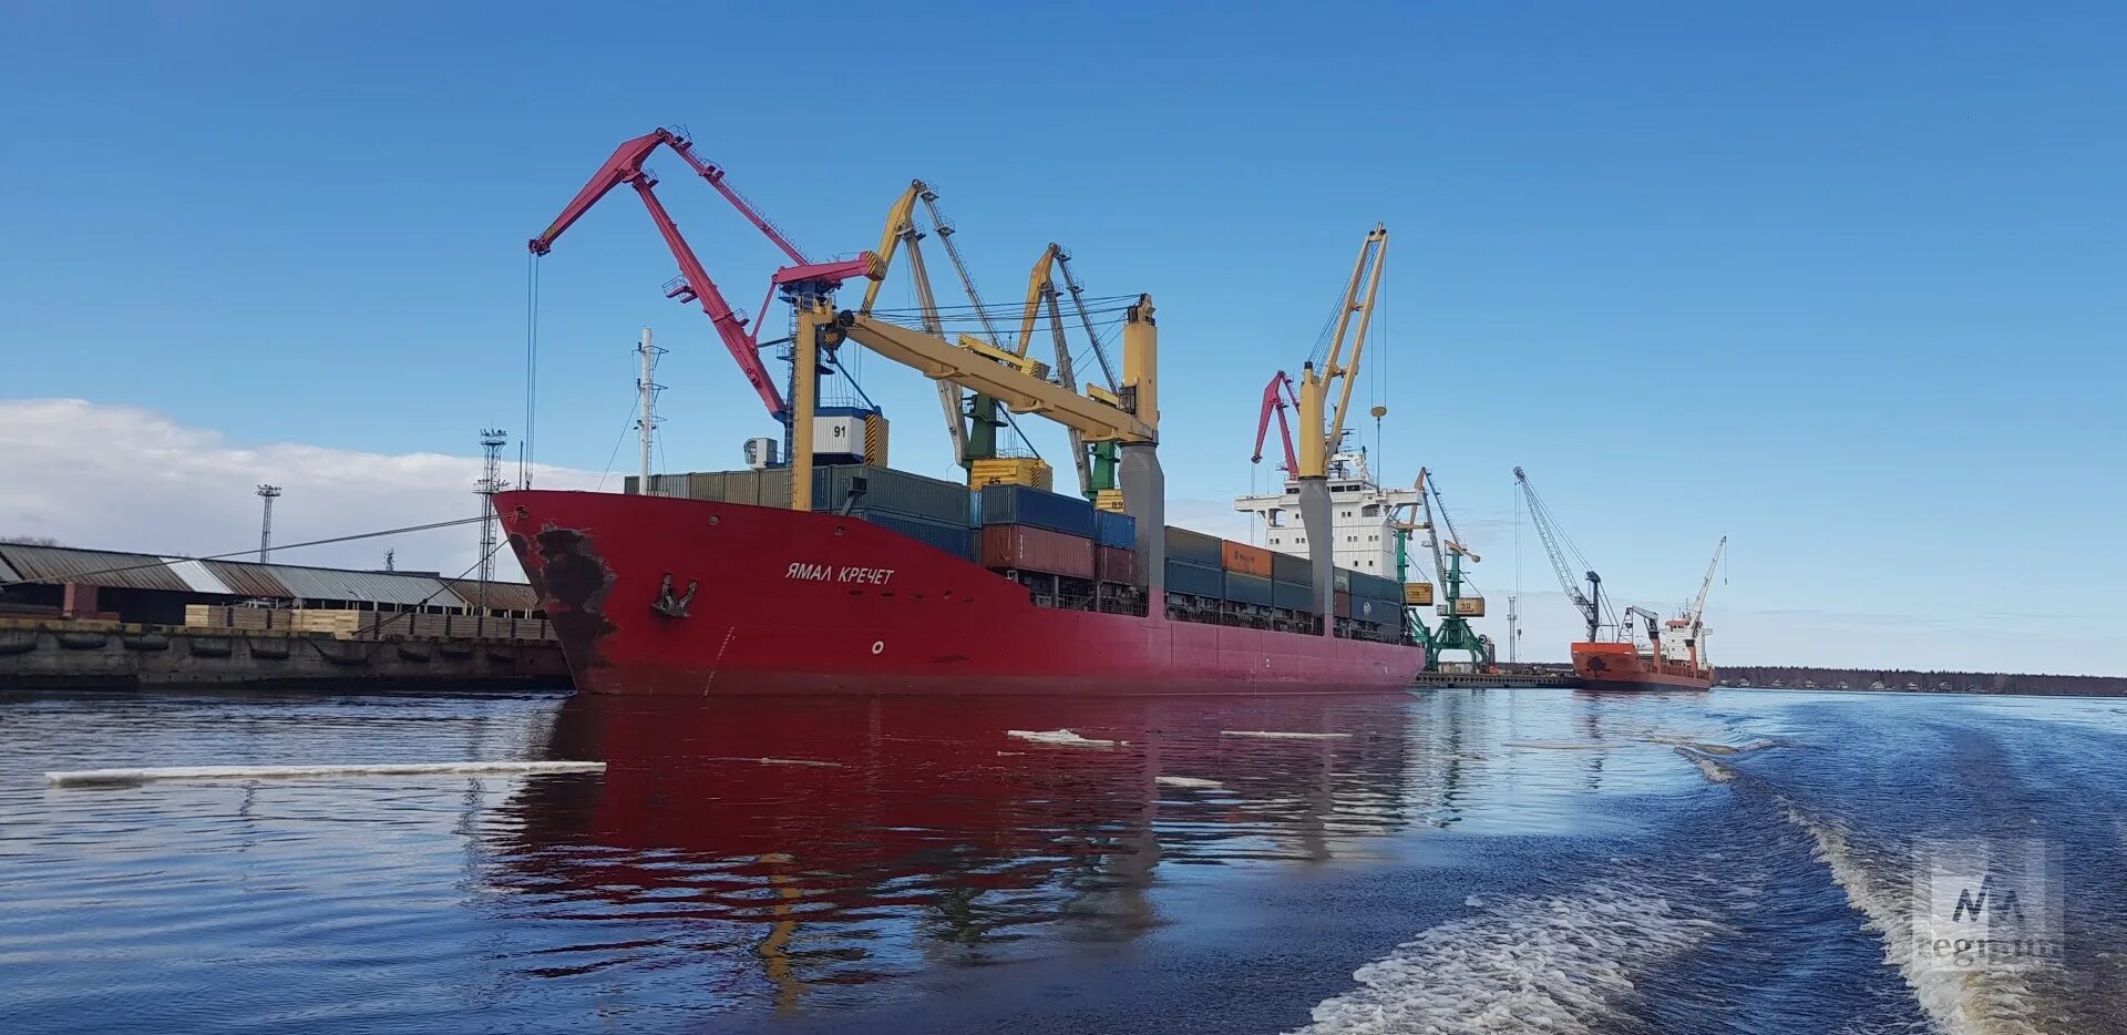
M 1291 694 L 1400 690 L 1425 667 L 1414 645 L 1036 607 L 857 518 L 553 490 L 496 511 L 579 690 Z

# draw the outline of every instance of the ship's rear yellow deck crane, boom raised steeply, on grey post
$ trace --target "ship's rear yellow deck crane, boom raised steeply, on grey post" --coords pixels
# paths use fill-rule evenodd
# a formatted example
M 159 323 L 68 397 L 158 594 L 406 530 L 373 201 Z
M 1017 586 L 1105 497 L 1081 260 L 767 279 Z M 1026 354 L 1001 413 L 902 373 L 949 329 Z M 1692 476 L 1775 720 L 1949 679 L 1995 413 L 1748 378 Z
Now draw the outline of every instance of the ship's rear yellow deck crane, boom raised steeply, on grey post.
M 1389 228 L 1374 224 L 1359 245 L 1359 260 L 1351 268 L 1344 298 L 1338 307 L 1336 330 L 1321 351 L 1321 364 L 1308 358 L 1300 368 L 1300 524 L 1308 532 L 1308 560 L 1314 569 L 1314 613 L 1336 613 L 1336 532 L 1329 520 L 1329 456 L 1344 439 L 1344 415 L 1351 411 L 1351 385 L 1357 381 L 1359 358 L 1366 354 L 1366 332 L 1374 322 L 1374 300 L 1380 294 L 1380 270 L 1389 264 Z M 1357 324 L 1353 315 L 1357 313 Z M 1344 351 L 1351 332 L 1351 354 Z M 1338 385 L 1342 381 L 1342 385 Z M 1338 385 L 1336 407 L 1329 405 L 1329 388 Z M 1374 407 L 1374 415 L 1385 415 L 1387 407 Z M 1323 622 L 1329 635 L 1334 622 Z

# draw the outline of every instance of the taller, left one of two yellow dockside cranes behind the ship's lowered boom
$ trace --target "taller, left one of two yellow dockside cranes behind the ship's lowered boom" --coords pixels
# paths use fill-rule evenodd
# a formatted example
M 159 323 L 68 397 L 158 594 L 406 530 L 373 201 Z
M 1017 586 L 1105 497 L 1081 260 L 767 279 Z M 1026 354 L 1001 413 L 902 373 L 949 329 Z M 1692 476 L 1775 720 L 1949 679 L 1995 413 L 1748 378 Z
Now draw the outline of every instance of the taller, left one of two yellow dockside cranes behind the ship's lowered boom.
M 974 277 L 968 273 L 968 262 L 961 260 L 959 247 L 953 243 L 955 226 L 938 209 L 938 192 L 921 179 L 908 181 L 908 190 L 904 190 L 902 196 L 893 200 L 893 207 L 887 209 L 887 226 L 878 236 L 878 251 L 872 253 L 876 256 L 872 283 L 870 288 L 864 290 L 864 305 L 857 309 L 857 315 L 866 317 L 872 315 L 872 307 L 878 302 L 878 288 L 887 270 L 891 268 L 895 253 L 900 253 L 906 247 L 908 277 L 917 292 L 917 313 L 923 332 L 938 339 L 947 336 L 944 319 L 938 315 L 938 296 L 929 283 L 929 268 L 923 264 L 921 241 L 925 234 L 917 226 L 917 202 L 921 202 L 925 213 L 929 215 L 932 232 L 938 236 L 938 243 L 944 245 L 944 253 L 953 262 L 953 273 L 959 275 L 959 285 L 961 290 L 968 292 L 968 302 L 972 302 L 974 317 L 983 326 L 981 339 L 974 334 L 959 334 L 957 336 L 959 347 L 987 354 L 998 362 L 1012 362 L 1010 360 L 1012 354 L 1008 354 L 998 345 L 1002 336 L 998 334 L 998 328 L 989 319 L 989 307 L 983 305 L 983 294 L 974 288 Z M 1025 347 L 1021 345 L 1021 356 L 1023 354 Z M 1046 366 L 1025 362 L 1021 364 L 1021 368 L 1046 377 Z M 947 434 L 953 441 L 953 456 L 964 466 L 968 466 L 972 479 L 970 483 L 981 486 L 983 475 L 993 473 L 989 469 L 995 466 L 998 458 L 998 426 L 1004 424 L 1004 420 L 1008 417 L 1000 420 L 998 400 L 981 394 L 974 396 L 974 400 L 968 402 L 966 409 L 961 409 L 964 407 L 961 390 L 953 381 L 938 381 L 938 405 L 944 409 L 944 424 L 947 424 Z M 1034 464 L 1046 471 L 1046 464 L 1042 464 L 1040 460 L 1032 460 L 1032 464 L 1021 462 L 1015 464 L 1015 469 Z M 985 471 L 976 471 L 978 466 L 983 466 Z M 1036 481 L 1029 479 L 1027 483 Z M 1040 479 L 1040 488 L 1049 488 L 1046 477 Z

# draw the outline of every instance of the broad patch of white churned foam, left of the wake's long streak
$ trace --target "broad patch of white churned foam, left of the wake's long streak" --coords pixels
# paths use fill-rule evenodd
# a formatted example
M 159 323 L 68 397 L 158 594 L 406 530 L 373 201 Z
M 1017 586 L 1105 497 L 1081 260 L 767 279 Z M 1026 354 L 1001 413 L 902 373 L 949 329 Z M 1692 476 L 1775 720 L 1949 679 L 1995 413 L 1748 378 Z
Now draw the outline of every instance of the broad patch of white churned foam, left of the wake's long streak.
M 1470 899 L 1478 903 L 1478 899 Z M 1483 901 L 1353 973 L 1304 1035 L 1593 1031 L 1634 982 L 1716 924 L 1636 886 Z

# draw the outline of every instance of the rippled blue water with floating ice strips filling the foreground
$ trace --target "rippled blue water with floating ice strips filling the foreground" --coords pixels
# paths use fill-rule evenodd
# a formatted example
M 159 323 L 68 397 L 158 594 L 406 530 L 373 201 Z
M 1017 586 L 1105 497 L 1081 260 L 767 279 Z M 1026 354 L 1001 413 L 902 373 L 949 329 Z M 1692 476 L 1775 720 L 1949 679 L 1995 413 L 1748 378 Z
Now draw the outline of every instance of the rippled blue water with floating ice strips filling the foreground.
M 1008 735 L 1055 728 L 1121 743 Z M 83 694 L 0 743 L 11 1033 L 2127 1031 L 2110 701 Z M 40 779 L 464 758 L 608 771 Z M 1916 956 L 1957 845 L 2036 845 L 2059 963 Z

